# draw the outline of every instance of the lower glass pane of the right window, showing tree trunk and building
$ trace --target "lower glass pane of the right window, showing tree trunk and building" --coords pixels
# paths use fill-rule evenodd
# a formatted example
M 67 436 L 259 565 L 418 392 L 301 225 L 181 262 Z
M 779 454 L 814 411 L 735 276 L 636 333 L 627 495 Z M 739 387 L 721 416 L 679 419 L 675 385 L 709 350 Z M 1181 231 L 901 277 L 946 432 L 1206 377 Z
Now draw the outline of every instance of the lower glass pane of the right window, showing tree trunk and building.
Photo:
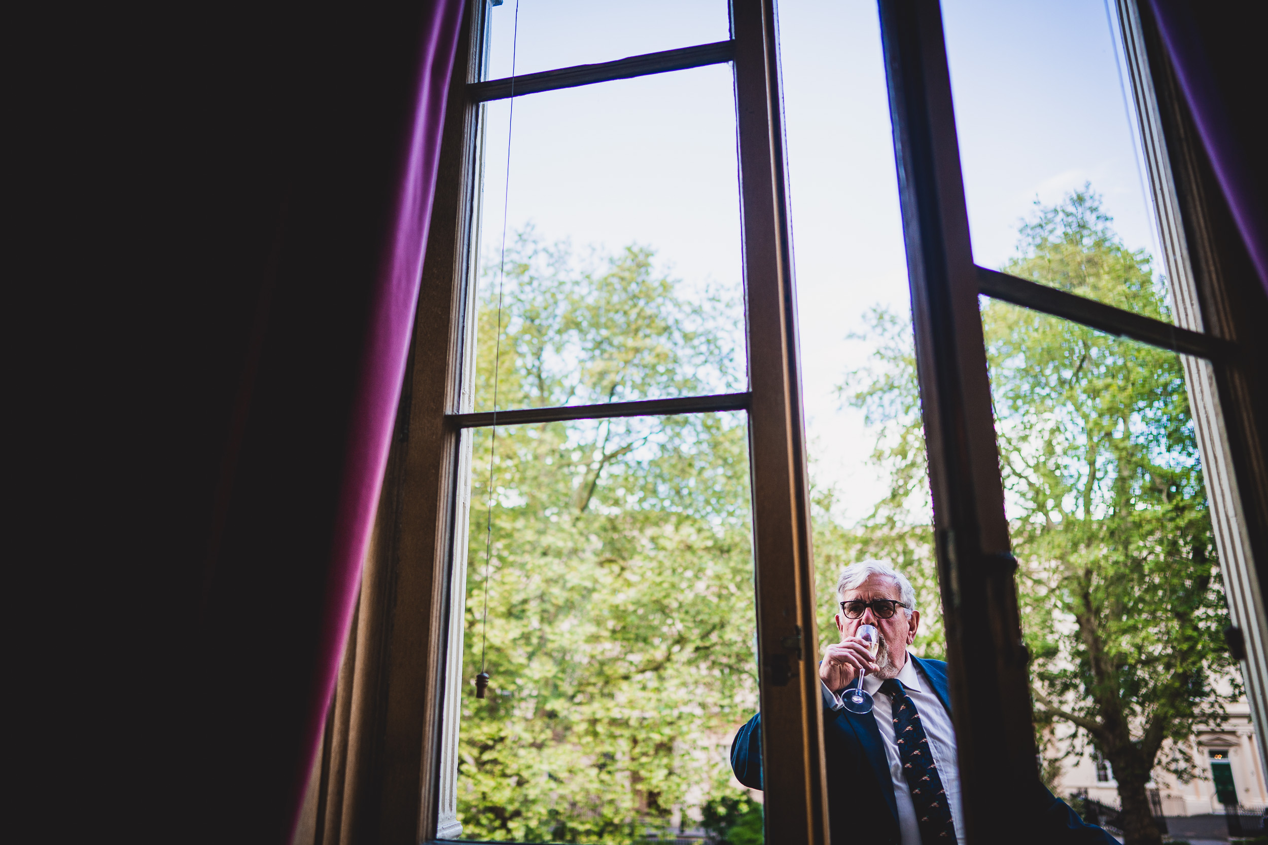
M 1045 779 L 1148 841 L 1232 799 L 1203 749 L 1227 744 L 1262 804 L 1184 361 L 983 302 Z

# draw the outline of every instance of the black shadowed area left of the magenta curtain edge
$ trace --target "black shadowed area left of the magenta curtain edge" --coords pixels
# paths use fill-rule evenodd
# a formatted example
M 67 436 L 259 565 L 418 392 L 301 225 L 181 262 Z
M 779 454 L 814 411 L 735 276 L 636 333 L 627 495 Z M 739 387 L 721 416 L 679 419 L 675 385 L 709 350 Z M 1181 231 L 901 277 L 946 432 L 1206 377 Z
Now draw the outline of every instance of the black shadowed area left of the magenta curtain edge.
M 46 826 L 285 837 L 429 5 L 15 24 Z

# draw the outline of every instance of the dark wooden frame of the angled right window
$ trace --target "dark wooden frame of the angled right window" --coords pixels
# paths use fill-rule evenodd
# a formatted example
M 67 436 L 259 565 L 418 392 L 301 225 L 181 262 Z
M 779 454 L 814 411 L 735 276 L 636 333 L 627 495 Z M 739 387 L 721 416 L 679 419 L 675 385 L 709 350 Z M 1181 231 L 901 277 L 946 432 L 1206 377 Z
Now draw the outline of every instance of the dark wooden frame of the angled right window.
M 1252 395 L 1263 374 L 1230 304 L 1224 267 L 1236 265 L 1238 248 L 1156 27 L 1135 0 L 1116 5 L 1175 326 L 974 265 L 938 3 L 880 0 L 970 841 L 1023 829 L 1026 791 L 1038 779 L 979 295 L 1182 353 L 1234 622 L 1230 647 L 1255 720 L 1268 725 L 1259 580 L 1268 473 Z

